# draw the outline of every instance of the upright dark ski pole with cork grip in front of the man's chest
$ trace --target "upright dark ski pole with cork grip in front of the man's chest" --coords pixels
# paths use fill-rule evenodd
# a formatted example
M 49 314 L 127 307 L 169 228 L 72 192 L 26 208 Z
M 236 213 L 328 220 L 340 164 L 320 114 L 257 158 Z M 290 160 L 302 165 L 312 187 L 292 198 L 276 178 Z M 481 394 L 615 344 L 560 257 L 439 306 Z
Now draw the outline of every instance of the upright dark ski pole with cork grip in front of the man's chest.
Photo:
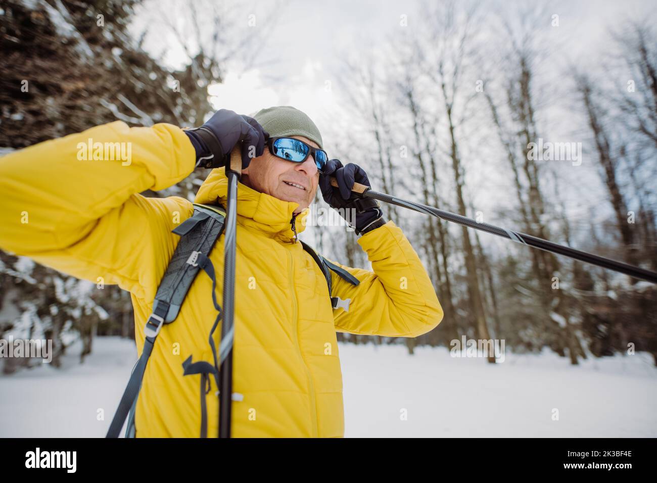
M 226 166 L 228 195 L 223 239 L 223 316 L 219 343 L 219 438 L 231 437 L 233 403 L 233 339 L 235 337 L 235 239 L 237 222 L 237 181 L 242 175 L 240 147 L 231 152 Z

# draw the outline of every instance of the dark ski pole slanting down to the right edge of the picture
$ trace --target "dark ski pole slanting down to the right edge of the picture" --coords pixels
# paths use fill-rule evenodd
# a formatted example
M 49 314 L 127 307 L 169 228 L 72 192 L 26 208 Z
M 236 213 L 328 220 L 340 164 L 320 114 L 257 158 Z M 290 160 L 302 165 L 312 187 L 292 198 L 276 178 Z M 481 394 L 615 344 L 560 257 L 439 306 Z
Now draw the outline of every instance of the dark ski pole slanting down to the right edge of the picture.
M 337 187 L 338 181 L 334 177 L 331 177 L 330 184 L 334 187 Z M 489 225 L 488 223 L 478 223 L 477 221 L 474 221 L 474 219 L 466 218 L 451 212 L 445 212 L 432 206 L 426 206 L 426 204 L 406 201 L 402 200 L 401 198 L 397 198 L 396 196 L 387 195 L 386 193 L 378 193 L 376 191 L 372 191 L 369 186 L 361 185 L 359 183 L 354 183 L 351 191 L 359 193 L 364 198 L 374 198 L 375 200 L 395 204 L 397 206 L 402 206 L 403 208 L 409 208 L 409 210 L 436 216 L 438 218 L 444 219 L 445 221 L 453 221 L 454 223 L 459 223 L 459 225 L 464 225 L 468 228 L 486 231 L 486 233 L 492 233 L 493 235 L 510 239 L 511 241 L 517 243 L 533 246 L 534 248 L 540 248 L 546 252 L 567 256 L 573 258 L 574 260 L 579 260 L 580 262 L 597 265 L 598 267 L 624 273 L 630 277 L 635 277 L 637 279 L 645 280 L 651 283 L 657 283 L 657 273 L 643 269 L 641 267 L 635 267 L 634 265 L 618 262 L 617 260 L 612 260 L 611 258 L 605 258 L 603 256 L 576 250 L 575 248 L 570 248 L 570 246 L 564 246 L 558 243 L 543 240 L 538 237 L 533 237 L 532 235 L 526 235 L 526 233 L 507 230 L 505 228 L 496 227 L 495 225 Z

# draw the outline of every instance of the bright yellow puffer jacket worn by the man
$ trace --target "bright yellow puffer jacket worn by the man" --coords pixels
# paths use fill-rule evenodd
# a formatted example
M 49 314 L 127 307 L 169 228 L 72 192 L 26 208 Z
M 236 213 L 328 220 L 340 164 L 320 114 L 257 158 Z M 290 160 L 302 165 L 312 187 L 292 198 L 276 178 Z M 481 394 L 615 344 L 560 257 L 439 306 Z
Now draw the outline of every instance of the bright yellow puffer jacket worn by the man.
M 88 139 L 130 143 L 131 162 L 78 160 L 78 143 Z M 139 193 L 169 187 L 193 169 L 191 143 L 169 124 L 130 128 L 112 122 L 16 151 L 0 158 L 0 248 L 129 290 L 141 353 L 152 300 L 179 240 L 171 230 L 193 214 L 193 206 L 177 196 Z M 218 199 L 225 206 L 226 193 L 225 173 L 213 170 L 196 202 Z M 409 241 L 388 221 L 358 240 L 373 271 L 340 265 L 359 279 L 357 287 L 332 273 L 334 296 L 351 299 L 349 311 L 333 310 L 325 277 L 294 242 L 290 219 L 298 204 L 241 183 L 237 198 L 233 390 L 244 398 L 233 402 L 233 436 L 341 437 L 336 331 L 426 333 L 443 315 L 434 288 Z M 297 217 L 298 232 L 307 214 Z M 223 235 L 210 260 L 221 285 Z M 211 290 L 210 278 L 200 271 L 178 318 L 158 337 L 137 403 L 138 437 L 200 433 L 200 376 L 183 377 L 182 363 L 190 355 L 194 362 L 213 360 Z M 217 347 L 220 334 L 219 327 Z M 210 437 L 218 426 L 214 391 L 213 381 L 206 397 Z M 104 409 L 112 415 L 115 407 Z

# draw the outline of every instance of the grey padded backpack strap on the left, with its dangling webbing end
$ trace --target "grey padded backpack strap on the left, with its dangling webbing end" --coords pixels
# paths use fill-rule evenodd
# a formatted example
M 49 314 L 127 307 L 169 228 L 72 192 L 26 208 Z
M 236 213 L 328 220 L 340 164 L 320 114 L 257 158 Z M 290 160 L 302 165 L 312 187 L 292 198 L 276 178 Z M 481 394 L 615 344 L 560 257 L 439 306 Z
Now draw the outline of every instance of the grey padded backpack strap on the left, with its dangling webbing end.
M 172 323 L 178 316 L 185 296 L 200 269 L 200 265 L 196 263 L 198 256 L 209 256 L 223 231 L 225 218 L 226 212 L 221 206 L 194 204 L 194 214 L 172 230 L 181 238 L 155 294 L 153 310 L 144 329 L 144 348 L 125 387 L 107 438 L 118 438 L 128 413 L 130 420 L 126 434 L 134 434 L 131 429 L 134 409 L 155 340 L 162 326 Z

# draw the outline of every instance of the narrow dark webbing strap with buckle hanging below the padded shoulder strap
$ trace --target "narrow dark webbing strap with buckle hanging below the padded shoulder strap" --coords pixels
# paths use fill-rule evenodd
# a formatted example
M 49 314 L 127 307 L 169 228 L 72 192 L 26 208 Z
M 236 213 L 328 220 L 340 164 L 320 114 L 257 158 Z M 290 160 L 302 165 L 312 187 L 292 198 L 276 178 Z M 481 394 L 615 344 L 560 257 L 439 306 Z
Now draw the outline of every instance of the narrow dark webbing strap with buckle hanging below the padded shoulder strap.
M 110 424 L 110 428 L 107 431 L 106 438 L 118 438 L 121 432 L 121 428 L 125 423 L 125 418 L 130 412 L 131 407 L 137 400 L 137 395 L 139 394 L 139 388 L 141 388 L 141 381 L 144 379 L 144 373 L 146 371 L 146 365 L 148 363 L 148 358 L 153 351 L 153 346 L 155 340 L 164 325 L 164 317 L 169 310 L 169 304 L 162 302 L 154 309 L 153 313 L 148 317 L 146 327 L 144 328 L 144 333 L 146 338 L 144 340 L 144 348 L 141 351 L 141 357 L 135 365 L 132 374 L 130 375 L 130 380 L 125 386 L 125 391 L 121 397 L 121 402 L 119 403 L 116 413 L 114 413 L 114 418 Z

